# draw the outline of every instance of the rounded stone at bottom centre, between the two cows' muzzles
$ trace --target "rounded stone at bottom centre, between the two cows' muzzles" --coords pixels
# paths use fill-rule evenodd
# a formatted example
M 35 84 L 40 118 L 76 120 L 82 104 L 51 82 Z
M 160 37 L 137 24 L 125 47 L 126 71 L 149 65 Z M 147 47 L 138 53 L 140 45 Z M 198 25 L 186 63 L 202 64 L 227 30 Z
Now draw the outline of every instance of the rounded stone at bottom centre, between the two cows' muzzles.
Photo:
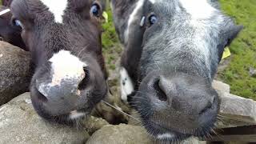
M 153 140 L 147 135 L 141 126 L 131 125 L 107 125 L 96 131 L 86 142 L 87 144 L 151 144 Z

